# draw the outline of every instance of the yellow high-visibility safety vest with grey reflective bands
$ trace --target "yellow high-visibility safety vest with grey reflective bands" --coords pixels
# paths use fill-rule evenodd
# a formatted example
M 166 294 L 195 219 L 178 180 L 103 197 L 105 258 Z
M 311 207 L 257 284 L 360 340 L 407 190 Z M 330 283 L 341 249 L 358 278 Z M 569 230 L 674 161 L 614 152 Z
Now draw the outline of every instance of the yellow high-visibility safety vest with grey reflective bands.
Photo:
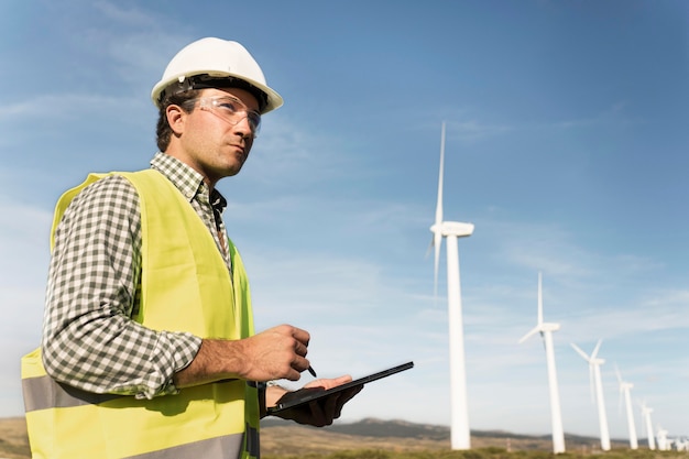
M 133 319 L 201 338 L 253 335 L 249 284 L 234 245 L 232 278 L 216 243 L 182 193 L 160 172 L 114 173 L 136 188 L 141 207 L 141 307 Z M 61 197 L 53 234 L 72 199 L 105 174 Z M 53 236 L 51 237 L 51 247 Z M 22 358 L 22 387 L 34 459 L 258 458 L 254 383 L 222 381 L 153 400 L 94 394 L 58 383 L 40 349 Z

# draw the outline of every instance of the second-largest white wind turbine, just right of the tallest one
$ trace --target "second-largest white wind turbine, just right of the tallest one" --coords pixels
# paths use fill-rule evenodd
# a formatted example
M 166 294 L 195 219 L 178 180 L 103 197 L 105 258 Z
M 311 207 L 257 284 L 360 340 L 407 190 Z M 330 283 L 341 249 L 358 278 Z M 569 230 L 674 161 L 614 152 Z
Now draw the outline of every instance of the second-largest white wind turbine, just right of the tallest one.
M 550 390 L 550 422 L 553 423 L 553 452 L 565 452 L 565 433 L 562 431 L 562 413 L 560 411 L 560 394 L 557 386 L 557 370 L 555 368 L 555 350 L 553 349 L 553 331 L 560 329 L 559 324 L 543 321 L 543 289 L 542 276 L 538 273 L 538 323 L 520 340 L 526 341 L 533 335 L 540 334 L 546 347 L 546 363 L 548 365 L 548 387 Z

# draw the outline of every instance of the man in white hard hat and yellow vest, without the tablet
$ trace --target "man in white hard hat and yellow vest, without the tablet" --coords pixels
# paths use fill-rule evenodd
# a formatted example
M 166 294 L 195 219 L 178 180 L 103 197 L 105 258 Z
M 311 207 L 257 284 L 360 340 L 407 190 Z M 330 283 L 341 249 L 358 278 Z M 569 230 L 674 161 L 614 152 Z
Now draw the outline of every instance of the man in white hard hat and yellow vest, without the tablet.
M 42 346 L 22 361 L 34 458 L 259 457 L 259 418 L 287 392 L 264 383 L 310 369 L 307 331 L 254 335 L 215 188 L 282 97 L 239 43 L 203 39 L 152 99 L 152 168 L 90 175 L 56 207 Z M 280 416 L 331 424 L 360 389 Z

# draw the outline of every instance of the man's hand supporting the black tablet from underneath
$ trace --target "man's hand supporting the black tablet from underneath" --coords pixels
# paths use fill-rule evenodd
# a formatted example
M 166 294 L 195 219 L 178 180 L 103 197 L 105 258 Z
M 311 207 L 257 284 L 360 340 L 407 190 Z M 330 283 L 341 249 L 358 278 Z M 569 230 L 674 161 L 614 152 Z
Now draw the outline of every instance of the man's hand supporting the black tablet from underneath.
M 331 380 L 320 379 L 309 382 L 304 386 L 304 389 L 322 387 L 328 390 L 348 383 L 351 380 L 352 378 L 349 375 Z M 332 424 L 333 419 L 340 417 L 344 404 L 361 392 L 362 389 L 363 385 L 357 385 L 346 391 L 337 392 L 327 397 L 313 401 L 308 404 L 275 413 L 275 416 L 282 417 L 283 419 L 292 419 L 298 424 L 308 424 L 316 427 L 329 426 Z M 275 406 L 280 397 L 286 393 L 287 391 L 280 386 L 267 387 L 265 391 L 266 406 Z

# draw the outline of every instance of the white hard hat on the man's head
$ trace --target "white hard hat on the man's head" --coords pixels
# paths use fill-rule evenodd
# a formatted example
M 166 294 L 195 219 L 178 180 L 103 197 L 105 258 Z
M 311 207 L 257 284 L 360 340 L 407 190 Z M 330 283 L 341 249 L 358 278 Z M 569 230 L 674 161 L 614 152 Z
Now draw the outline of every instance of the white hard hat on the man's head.
M 151 99 L 161 107 L 166 95 L 188 89 L 240 87 L 258 94 L 261 113 L 283 105 L 282 97 L 271 89 L 263 72 L 247 48 L 232 41 L 201 39 L 183 47 L 172 58 L 161 80 L 153 87 Z

